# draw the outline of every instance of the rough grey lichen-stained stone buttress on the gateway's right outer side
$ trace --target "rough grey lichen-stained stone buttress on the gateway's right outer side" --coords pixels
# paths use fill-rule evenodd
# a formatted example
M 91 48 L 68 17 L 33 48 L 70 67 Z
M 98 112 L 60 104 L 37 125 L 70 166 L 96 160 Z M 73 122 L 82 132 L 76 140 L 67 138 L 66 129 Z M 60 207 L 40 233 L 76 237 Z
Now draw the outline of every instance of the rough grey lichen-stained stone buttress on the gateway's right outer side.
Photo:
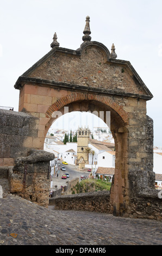
M 136 162 L 129 160 L 129 191 L 132 198 L 138 196 L 158 197 L 155 190 L 155 173 L 153 172 L 153 120 L 146 115 L 142 126 L 143 132 L 138 135 L 136 149 Z M 142 134 L 143 133 L 143 134 Z M 135 140 L 134 140 L 135 141 Z M 129 150 L 131 153 L 133 148 Z

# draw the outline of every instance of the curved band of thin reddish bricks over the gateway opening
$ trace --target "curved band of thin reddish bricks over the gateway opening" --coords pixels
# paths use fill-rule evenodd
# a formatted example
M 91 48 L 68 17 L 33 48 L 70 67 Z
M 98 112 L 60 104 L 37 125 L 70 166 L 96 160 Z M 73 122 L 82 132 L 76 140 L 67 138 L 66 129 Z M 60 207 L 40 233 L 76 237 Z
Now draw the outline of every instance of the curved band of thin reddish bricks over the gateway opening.
M 46 111 L 46 117 L 51 118 L 54 111 L 59 111 L 60 108 L 79 100 L 95 100 L 102 102 L 112 108 L 123 120 L 124 124 L 128 124 L 128 114 L 116 102 L 104 95 L 95 95 L 90 93 L 72 93 L 58 99 Z

